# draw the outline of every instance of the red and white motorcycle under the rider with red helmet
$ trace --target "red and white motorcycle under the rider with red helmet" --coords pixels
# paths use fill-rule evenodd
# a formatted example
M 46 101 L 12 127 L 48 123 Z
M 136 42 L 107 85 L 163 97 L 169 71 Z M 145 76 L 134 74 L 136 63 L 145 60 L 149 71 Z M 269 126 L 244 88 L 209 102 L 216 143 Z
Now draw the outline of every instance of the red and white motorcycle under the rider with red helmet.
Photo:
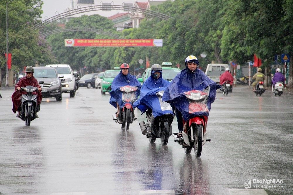
M 116 115 L 113 114 L 113 120 L 115 122 L 118 122 L 121 124 L 121 128 L 124 129 L 126 126 L 126 130 L 129 130 L 130 124 L 136 120 L 137 118 L 134 118 L 134 107 L 133 102 L 137 100 L 137 86 L 123 86 L 119 88 L 119 91 L 122 93 L 121 100 L 122 106 L 120 106 L 120 111 L 118 118 L 116 118 Z M 120 105 L 120 104 L 119 104 Z

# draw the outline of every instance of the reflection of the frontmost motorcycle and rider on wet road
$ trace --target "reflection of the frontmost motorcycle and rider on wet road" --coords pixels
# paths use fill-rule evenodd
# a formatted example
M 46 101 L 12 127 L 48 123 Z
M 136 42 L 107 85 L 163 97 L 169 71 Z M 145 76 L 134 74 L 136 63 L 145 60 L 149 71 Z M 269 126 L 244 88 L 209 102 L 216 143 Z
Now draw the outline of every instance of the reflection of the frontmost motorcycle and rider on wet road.
M 185 155 L 180 168 L 180 183 L 178 194 L 209 194 L 207 166 L 202 165 L 200 158 L 192 158 L 191 154 Z

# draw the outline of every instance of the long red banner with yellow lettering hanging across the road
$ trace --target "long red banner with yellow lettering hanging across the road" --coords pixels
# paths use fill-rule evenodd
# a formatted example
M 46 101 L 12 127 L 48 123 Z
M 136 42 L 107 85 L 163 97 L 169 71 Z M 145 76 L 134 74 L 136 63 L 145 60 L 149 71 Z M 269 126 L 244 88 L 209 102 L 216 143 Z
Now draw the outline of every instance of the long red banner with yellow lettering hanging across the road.
M 64 39 L 65 47 L 161 47 L 163 39 Z

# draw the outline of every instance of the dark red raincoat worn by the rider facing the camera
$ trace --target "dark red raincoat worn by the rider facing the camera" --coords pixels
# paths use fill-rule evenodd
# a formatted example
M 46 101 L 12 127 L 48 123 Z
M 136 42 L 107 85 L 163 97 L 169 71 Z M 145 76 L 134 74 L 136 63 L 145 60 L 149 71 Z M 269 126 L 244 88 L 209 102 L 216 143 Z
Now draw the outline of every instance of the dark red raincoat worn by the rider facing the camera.
M 15 90 L 16 87 L 26 87 L 28 85 L 31 85 L 33 87 L 41 87 L 40 84 L 38 83 L 38 80 L 35 79 L 35 77 L 32 75 L 30 78 L 28 77 L 23 77 L 21 78 L 15 85 Z M 12 96 L 12 103 L 13 103 L 13 108 L 12 111 L 13 113 L 16 113 L 18 106 L 21 105 L 21 95 L 26 94 L 27 92 L 21 91 L 21 90 L 16 90 Z M 40 105 L 42 101 L 42 93 L 40 91 L 33 92 L 33 94 L 38 94 L 37 97 L 37 104 Z

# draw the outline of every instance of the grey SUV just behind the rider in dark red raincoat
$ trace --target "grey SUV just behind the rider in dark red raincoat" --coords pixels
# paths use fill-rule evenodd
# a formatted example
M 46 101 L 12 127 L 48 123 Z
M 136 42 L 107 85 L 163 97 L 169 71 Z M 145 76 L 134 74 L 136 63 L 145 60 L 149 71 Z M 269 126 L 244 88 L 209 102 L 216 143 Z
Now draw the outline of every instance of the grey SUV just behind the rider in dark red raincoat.
M 57 101 L 62 101 L 61 80 L 58 77 L 57 70 L 52 67 L 34 67 L 34 77 L 42 88 L 42 96 L 44 98 L 54 97 Z M 62 76 L 61 76 L 62 78 Z

